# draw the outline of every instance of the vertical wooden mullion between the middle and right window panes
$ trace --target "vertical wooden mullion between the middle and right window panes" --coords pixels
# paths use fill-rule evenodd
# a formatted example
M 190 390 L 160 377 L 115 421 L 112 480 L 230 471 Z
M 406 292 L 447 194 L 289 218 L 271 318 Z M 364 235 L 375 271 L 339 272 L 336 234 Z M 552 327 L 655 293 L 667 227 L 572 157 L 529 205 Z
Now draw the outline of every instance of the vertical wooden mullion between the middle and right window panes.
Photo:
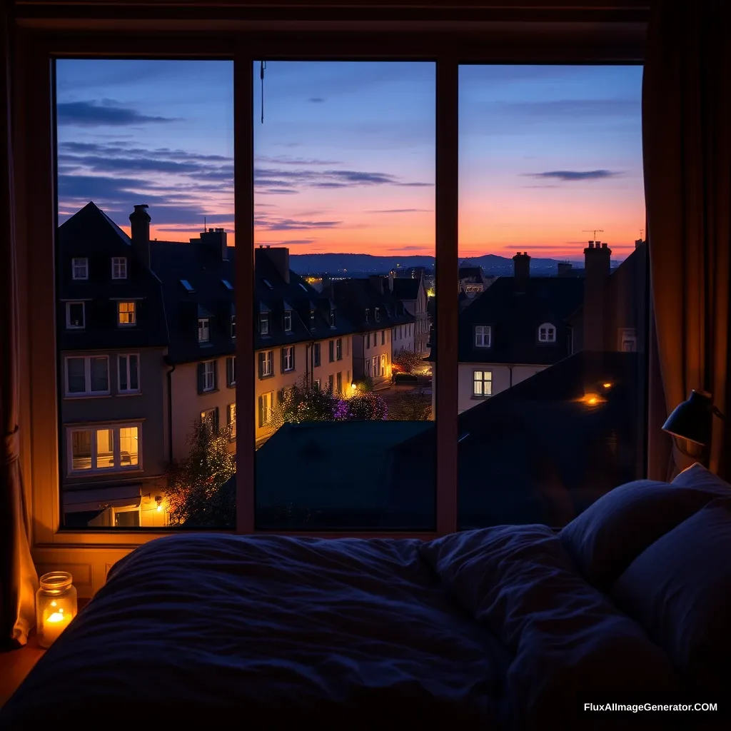
M 436 530 L 457 530 L 459 65 L 436 62 Z

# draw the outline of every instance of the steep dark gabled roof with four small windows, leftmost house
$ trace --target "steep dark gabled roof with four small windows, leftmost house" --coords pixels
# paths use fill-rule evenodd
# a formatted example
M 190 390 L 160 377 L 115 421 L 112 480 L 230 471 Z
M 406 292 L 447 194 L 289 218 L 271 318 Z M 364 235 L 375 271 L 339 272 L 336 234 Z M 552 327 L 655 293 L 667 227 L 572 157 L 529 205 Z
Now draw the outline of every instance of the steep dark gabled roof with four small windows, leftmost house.
M 132 241 L 94 202 L 58 227 L 56 266 L 61 350 L 164 347 L 169 342 L 160 280 L 138 262 Z M 88 279 L 72 278 L 72 259 L 86 257 Z M 126 279 L 112 279 L 112 257 L 126 257 Z M 118 327 L 117 301 L 135 300 L 134 327 Z M 85 301 L 86 327 L 67 330 L 66 302 Z

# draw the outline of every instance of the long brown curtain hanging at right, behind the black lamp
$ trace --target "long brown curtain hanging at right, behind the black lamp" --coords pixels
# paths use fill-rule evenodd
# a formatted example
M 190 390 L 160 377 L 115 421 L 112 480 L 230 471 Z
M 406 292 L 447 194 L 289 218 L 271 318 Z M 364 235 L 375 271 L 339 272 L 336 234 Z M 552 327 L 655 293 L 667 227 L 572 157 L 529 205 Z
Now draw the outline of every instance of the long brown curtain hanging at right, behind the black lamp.
M 693 388 L 729 408 L 731 3 L 658 0 L 643 80 L 645 202 L 664 414 Z M 662 420 L 650 420 L 656 431 Z M 710 469 L 730 472 L 729 429 L 713 417 Z M 651 450 L 662 439 L 648 435 Z M 649 463 L 662 462 L 650 454 Z M 673 446 L 670 471 L 692 459 Z M 665 477 L 665 476 L 662 476 Z

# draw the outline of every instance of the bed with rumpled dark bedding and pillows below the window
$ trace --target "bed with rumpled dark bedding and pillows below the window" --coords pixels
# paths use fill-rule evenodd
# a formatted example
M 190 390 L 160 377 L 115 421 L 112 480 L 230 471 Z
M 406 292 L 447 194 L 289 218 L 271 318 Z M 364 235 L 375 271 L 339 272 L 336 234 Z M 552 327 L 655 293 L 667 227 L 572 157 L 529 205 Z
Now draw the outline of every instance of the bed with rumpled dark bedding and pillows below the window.
M 0 728 L 591 728 L 586 700 L 728 687 L 730 562 L 705 559 L 730 550 L 731 486 L 700 465 L 561 531 L 171 535 L 115 564 Z

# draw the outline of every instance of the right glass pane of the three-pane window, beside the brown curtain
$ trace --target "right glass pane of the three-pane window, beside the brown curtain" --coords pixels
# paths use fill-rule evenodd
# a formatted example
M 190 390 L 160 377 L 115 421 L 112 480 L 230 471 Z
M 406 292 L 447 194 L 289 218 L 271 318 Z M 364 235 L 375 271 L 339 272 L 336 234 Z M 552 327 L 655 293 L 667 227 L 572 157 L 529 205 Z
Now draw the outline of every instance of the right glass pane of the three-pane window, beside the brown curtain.
M 642 74 L 460 69 L 462 529 L 563 526 L 643 476 Z

